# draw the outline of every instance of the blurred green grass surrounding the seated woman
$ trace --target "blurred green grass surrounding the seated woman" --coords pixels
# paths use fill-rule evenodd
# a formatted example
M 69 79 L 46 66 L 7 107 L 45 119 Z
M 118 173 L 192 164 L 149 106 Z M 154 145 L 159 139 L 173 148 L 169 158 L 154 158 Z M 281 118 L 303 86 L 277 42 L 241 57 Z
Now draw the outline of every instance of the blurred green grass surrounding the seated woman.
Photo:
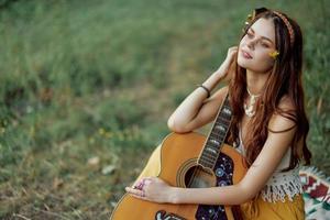
M 0 218 L 108 219 L 262 1 L 13 1 L 0 11 Z M 329 3 L 274 1 L 305 34 L 312 164 L 330 175 Z M 107 170 L 108 169 L 108 170 Z M 112 170 L 111 170 L 112 169 Z

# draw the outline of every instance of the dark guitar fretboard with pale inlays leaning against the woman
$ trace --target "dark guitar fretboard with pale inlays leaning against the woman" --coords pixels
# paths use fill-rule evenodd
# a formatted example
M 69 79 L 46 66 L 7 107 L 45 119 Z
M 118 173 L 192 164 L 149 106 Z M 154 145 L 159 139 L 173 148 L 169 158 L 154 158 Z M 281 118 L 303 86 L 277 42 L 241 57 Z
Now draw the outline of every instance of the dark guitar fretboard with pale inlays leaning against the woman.
M 215 167 L 231 123 L 231 114 L 232 112 L 227 95 L 198 158 L 198 164 L 204 167 L 211 169 Z

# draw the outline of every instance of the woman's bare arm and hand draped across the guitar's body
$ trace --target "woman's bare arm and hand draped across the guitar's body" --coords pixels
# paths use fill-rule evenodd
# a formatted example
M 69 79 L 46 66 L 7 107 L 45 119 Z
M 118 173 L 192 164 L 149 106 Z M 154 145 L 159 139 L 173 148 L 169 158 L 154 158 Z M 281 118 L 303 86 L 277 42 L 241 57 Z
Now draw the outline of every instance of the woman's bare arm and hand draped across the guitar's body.
M 127 190 L 133 196 L 156 201 L 172 204 L 204 204 L 204 205 L 239 205 L 253 198 L 264 187 L 272 176 L 283 156 L 292 144 L 296 132 L 295 122 L 274 114 L 270 121 L 267 140 L 255 162 L 249 168 L 243 179 L 232 186 L 211 188 L 178 188 L 169 187 L 162 179 L 156 177 L 147 178 L 143 190 L 128 187 Z

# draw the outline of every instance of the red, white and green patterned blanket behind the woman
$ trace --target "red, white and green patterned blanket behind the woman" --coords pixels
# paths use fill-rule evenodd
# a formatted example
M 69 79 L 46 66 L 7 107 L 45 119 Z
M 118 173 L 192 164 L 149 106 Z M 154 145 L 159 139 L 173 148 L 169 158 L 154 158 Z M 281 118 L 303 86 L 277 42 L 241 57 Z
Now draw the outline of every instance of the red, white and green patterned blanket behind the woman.
M 316 167 L 299 170 L 304 188 L 306 220 L 330 220 L 330 177 Z

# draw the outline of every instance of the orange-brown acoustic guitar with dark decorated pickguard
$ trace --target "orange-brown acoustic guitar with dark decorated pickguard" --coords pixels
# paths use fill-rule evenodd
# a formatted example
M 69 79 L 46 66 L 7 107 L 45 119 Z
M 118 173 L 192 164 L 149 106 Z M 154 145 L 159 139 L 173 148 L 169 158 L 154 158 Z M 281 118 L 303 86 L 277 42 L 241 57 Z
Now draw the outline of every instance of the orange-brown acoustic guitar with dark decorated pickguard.
M 207 138 L 197 132 L 168 134 L 160 146 L 161 170 L 157 176 L 172 186 L 185 188 L 221 187 L 239 183 L 246 173 L 243 158 L 237 150 L 224 143 L 231 114 L 227 96 Z M 125 194 L 110 219 L 238 220 L 241 213 L 239 206 L 156 204 Z

